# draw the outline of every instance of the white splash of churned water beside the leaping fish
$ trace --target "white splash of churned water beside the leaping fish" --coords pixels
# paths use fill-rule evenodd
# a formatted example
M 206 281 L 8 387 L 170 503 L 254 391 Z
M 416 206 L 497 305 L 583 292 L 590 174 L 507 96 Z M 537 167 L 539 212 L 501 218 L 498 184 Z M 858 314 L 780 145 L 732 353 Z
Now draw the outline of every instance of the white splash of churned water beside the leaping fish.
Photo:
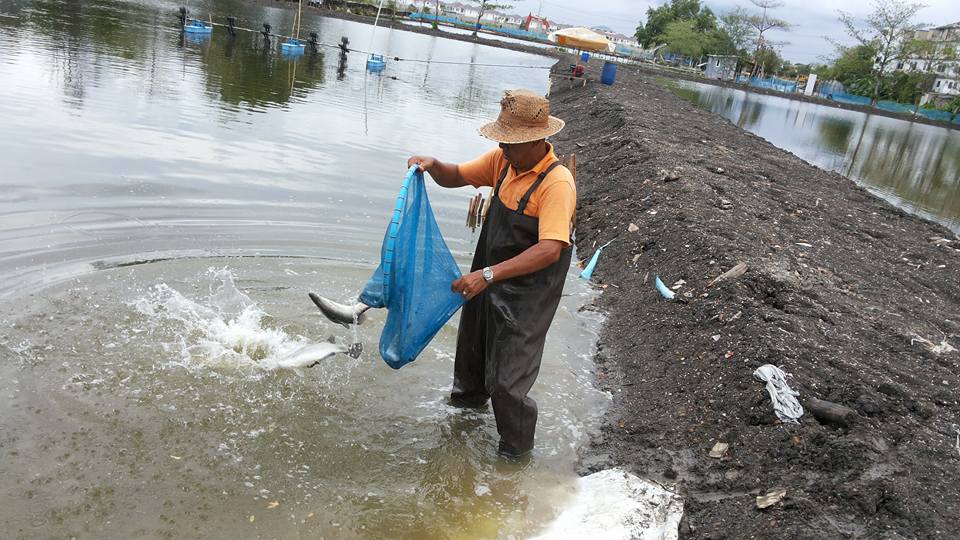
M 229 269 L 210 268 L 207 276 L 209 292 L 202 300 L 191 300 L 160 283 L 134 303 L 153 331 L 175 339 L 178 365 L 274 370 L 292 367 L 292 359 L 304 365 L 313 359 L 306 356 L 315 354 L 315 360 L 326 356 L 328 348 L 322 344 L 272 327 L 270 316 L 237 288 Z

